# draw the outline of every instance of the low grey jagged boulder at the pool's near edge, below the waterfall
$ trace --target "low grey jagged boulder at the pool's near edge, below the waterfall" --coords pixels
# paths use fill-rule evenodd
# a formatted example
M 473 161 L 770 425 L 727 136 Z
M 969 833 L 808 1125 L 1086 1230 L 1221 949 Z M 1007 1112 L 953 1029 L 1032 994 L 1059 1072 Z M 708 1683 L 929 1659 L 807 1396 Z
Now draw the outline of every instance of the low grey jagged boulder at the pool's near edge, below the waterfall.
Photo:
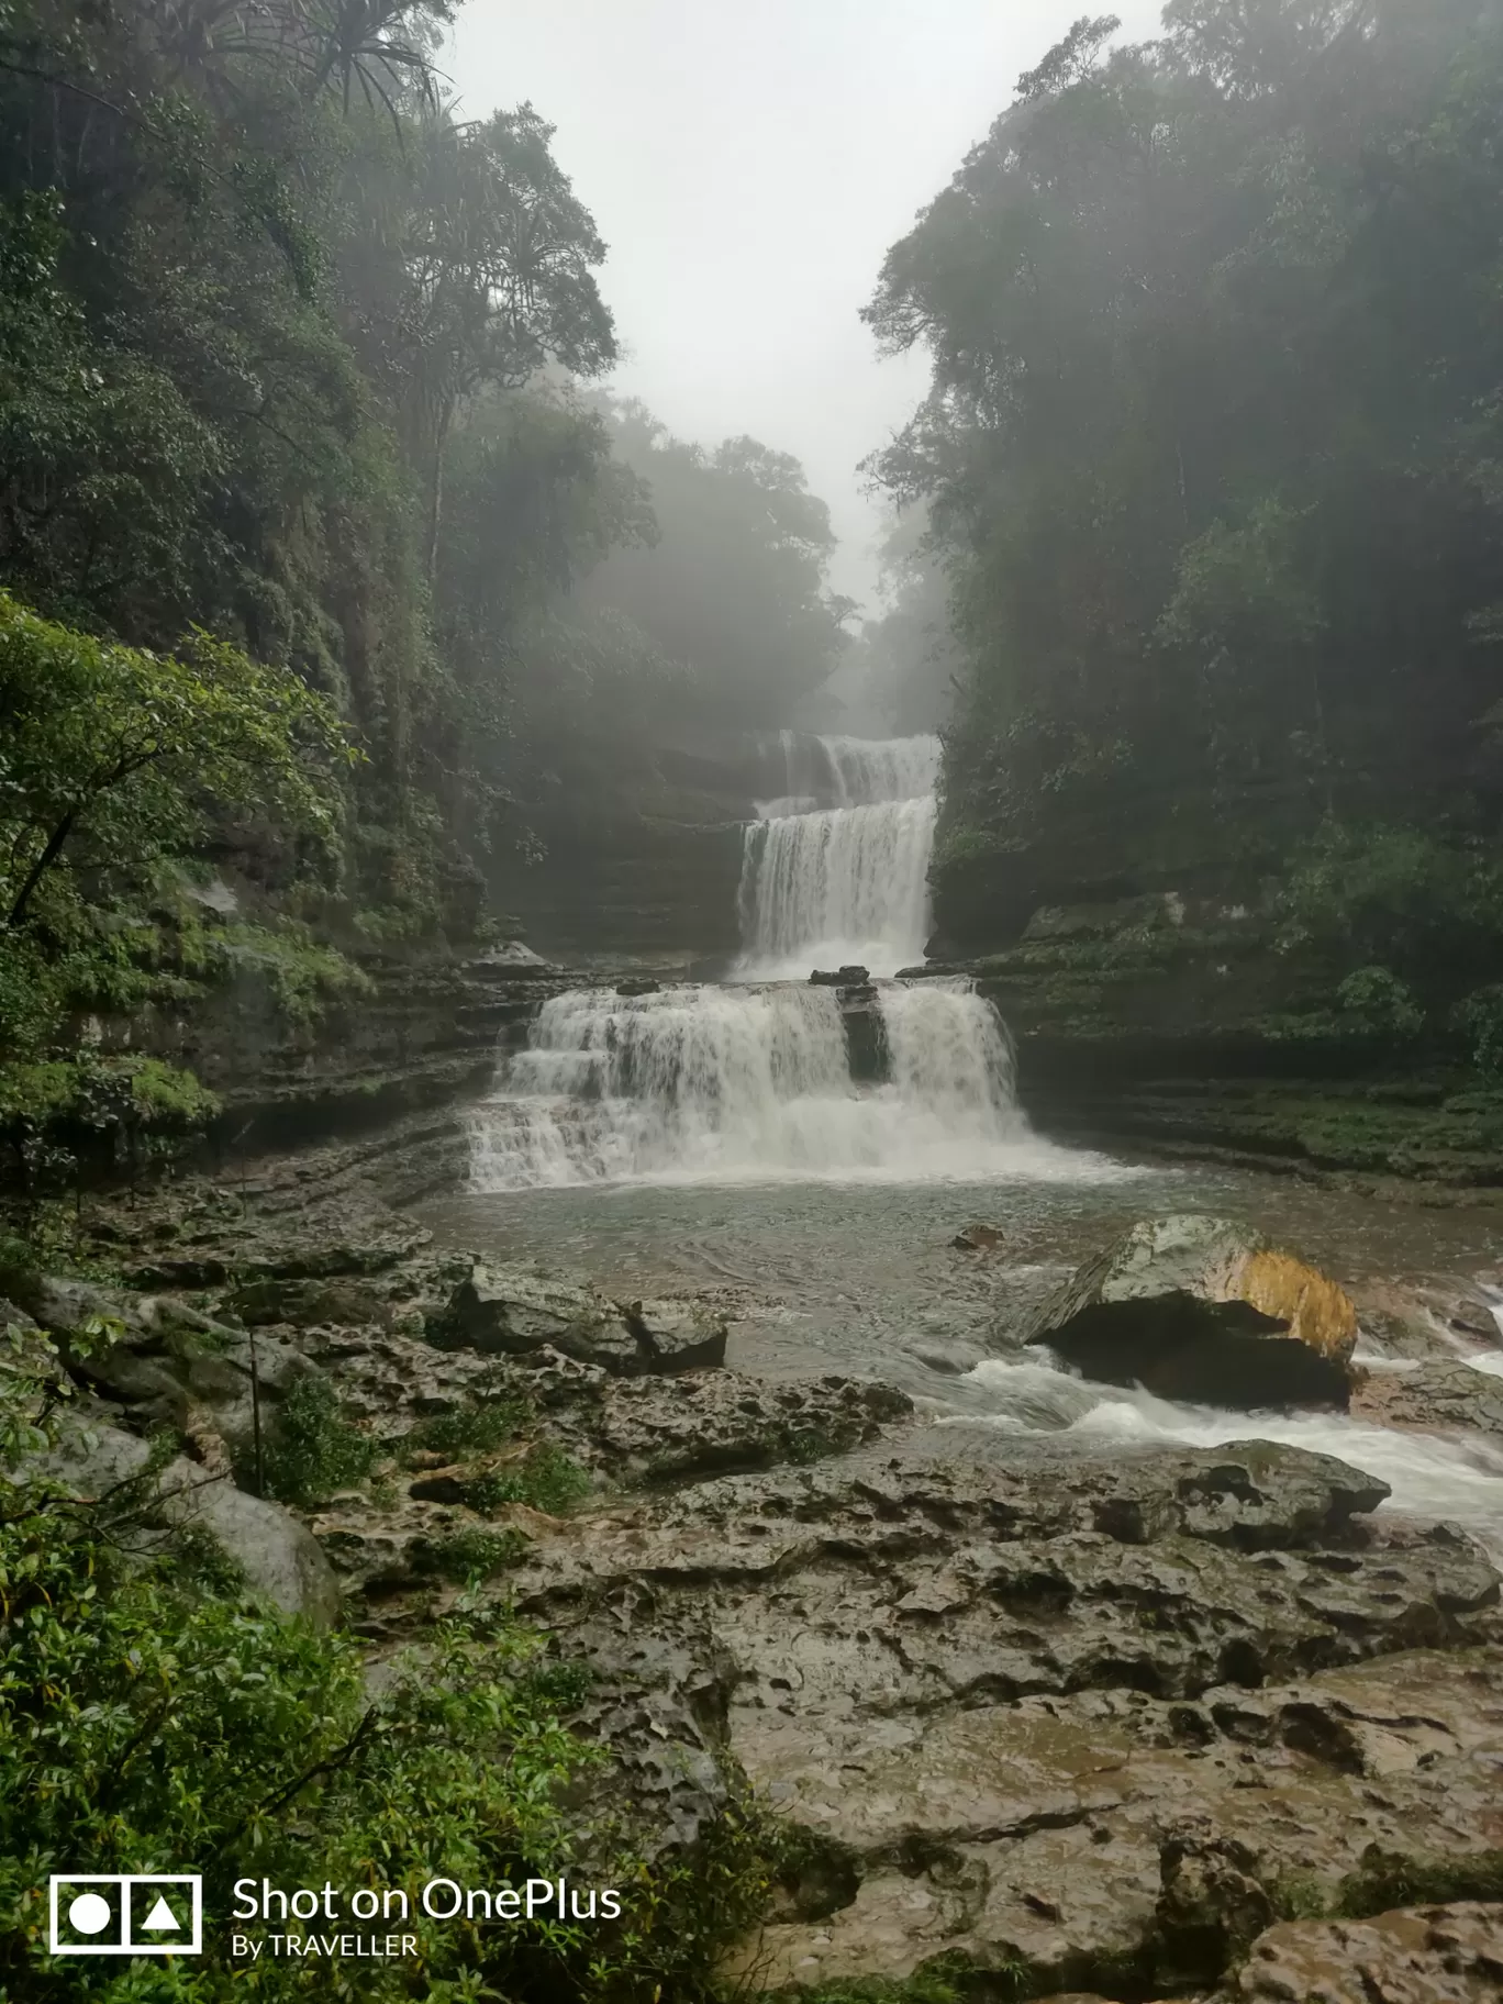
M 555 1349 L 613 1377 L 639 1377 L 723 1363 L 725 1321 L 699 1303 L 613 1303 L 525 1267 L 477 1265 L 429 1325 L 429 1341 L 489 1357 Z

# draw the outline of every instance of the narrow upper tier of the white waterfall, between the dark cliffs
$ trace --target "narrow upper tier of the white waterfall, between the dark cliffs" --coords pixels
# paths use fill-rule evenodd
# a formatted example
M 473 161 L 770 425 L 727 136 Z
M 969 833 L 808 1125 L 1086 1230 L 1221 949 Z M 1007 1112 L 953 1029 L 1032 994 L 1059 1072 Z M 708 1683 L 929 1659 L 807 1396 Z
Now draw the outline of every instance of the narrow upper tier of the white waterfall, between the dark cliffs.
M 745 832 L 737 972 L 780 980 L 816 966 L 912 966 L 928 932 L 938 737 L 800 741 L 786 731 L 782 749 L 786 792 L 758 802 Z

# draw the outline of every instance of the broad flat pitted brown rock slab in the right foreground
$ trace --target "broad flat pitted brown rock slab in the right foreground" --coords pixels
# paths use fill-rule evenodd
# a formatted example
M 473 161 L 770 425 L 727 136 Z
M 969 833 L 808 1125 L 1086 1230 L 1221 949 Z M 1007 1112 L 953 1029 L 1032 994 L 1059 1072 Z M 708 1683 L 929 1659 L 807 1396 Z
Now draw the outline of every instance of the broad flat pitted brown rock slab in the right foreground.
M 1363 1525 L 1379 1497 L 1269 1445 L 940 1427 L 605 1511 L 511 1591 L 563 1647 L 609 1609 L 643 1655 L 729 1655 L 788 1832 L 760 1984 L 950 1958 L 978 1996 L 1184 1994 L 1313 1860 L 1335 1900 L 1373 1844 L 1495 1842 L 1497 1575 Z

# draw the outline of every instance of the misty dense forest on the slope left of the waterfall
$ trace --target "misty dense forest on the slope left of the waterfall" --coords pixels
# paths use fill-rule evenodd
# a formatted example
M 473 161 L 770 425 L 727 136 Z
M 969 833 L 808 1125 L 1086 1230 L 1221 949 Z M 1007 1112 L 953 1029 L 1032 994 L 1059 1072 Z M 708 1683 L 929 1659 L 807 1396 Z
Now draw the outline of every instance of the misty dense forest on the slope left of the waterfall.
M 475 938 L 541 798 L 667 715 L 778 725 L 846 645 L 792 457 L 587 393 L 605 244 L 539 112 L 447 102 L 451 12 L 0 8 L 12 1142 L 196 1118 L 80 1024 Z

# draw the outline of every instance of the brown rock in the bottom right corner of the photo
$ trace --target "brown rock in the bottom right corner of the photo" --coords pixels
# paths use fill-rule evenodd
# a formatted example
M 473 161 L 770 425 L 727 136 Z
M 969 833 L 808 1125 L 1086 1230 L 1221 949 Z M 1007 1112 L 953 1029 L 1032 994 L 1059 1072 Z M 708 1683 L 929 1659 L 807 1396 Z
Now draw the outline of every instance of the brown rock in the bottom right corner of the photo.
M 1287 1920 L 1252 1944 L 1238 2004 L 1497 2004 L 1503 1906 L 1407 1906 L 1373 1920 Z

